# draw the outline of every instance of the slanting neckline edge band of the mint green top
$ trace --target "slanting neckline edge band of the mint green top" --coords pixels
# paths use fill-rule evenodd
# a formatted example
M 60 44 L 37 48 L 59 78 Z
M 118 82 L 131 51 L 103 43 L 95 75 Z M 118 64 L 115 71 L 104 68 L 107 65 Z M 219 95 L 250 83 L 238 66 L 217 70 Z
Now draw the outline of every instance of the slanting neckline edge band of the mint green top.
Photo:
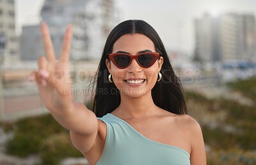
M 152 139 L 149 139 L 147 138 L 146 136 L 144 136 L 143 134 L 141 134 L 138 130 L 134 129 L 134 127 L 132 127 L 129 123 L 125 122 L 125 120 L 122 120 L 121 118 L 118 118 L 117 116 L 115 116 L 114 114 L 111 114 L 111 113 L 108 113 L 106 115 L 109 115 L 109 116 L 112 116 L 113 118 L 119 120 L 120 122 L 123 122 L 125 123 L 126 125 L 128 125 L 132 130 L 134 130 L 134 132 L 136 132 L 136 134 L 138 134 L 139 136 L 141 136 L 142 138 L 144 139 L 147 139 L 148 141 L 151 141 L 152 143 L 157 143 L 159 145 L 163 145 L 163 146 L 166 146 L 166 147 L 169 147 L 169 148 L 174 148 L 174 149 L 177 149 L 179 150 L 180 152 L 184 152 L 186 155 L 188 155 L 188 157 L 190 157 L 190 154 L 187 150 L 184 150 L 183 148 L 180 148 L 178 146 L 173 146 L 173 145 L 167 145 L 167 144 L 164 144 L 164 143 L 160 143 L 158 141 L 154 141 Z

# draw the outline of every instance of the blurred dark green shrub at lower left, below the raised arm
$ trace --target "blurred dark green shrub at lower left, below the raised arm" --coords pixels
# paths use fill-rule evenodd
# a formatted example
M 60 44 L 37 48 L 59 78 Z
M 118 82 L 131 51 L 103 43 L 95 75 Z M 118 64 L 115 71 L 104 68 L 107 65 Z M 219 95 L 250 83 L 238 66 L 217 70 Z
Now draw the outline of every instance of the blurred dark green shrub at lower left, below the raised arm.
M 83 157 L 70 142 L 68 130 L 45 114 L 14 123 L 14 136 L 6 143 L 6 153 L 26 157 L 39 153 L 42 164 L 58 164 L 65 157 Z

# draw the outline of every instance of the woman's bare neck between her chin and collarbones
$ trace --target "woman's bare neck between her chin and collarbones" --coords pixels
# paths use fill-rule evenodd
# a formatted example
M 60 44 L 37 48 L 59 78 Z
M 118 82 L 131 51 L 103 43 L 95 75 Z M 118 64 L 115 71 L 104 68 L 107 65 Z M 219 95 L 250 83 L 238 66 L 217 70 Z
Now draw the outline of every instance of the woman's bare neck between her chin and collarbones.
M 128 97 L 121 95 L 120 106 L 116 108 L 116 114 L 123 118 L 146 118 L 156 115 L 158 108 L 153 102 L 151 92 L 141 97 Z

